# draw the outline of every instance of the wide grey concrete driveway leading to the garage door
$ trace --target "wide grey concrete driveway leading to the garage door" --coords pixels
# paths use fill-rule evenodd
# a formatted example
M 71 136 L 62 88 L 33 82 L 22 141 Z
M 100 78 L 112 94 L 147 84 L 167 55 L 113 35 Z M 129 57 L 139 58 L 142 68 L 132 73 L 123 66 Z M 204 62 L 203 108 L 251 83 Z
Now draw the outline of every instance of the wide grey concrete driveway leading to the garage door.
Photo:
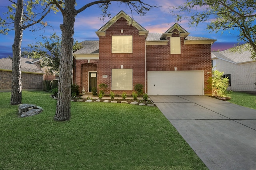
M 210 170 L 256 170 L 256 110 L 207 96 L 150 96 Z

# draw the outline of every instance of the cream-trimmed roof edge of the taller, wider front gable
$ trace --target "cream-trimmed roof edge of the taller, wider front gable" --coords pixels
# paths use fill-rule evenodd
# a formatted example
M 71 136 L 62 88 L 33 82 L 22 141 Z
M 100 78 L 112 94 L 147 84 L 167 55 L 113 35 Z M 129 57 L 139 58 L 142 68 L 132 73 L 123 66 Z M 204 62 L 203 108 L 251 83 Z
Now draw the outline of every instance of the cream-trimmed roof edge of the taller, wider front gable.
M 98 36 L 100 35 L 105 35 L 105 31 L 111 26 L 113 25 L 117 20 L 119 20 L 121 17 L 123 17 L 125 20 L 129 21 L 132 20 L 132 18 L 130 18 L 130 16 L 128 16 L 124 11 L 120 11 L 116 16 L 114 16 L 110 21 L 108 21 L 105 25 L 103 25 L 98 31 L 96 31 L 96 34 Z M 140 35 L 144 34 L 148 35 L 148 31 L 142 27 L 139 23 L 137 23 L 136 21 L 134 21 L 134 27 L 136 27 L 139 31 L 140 31 Z

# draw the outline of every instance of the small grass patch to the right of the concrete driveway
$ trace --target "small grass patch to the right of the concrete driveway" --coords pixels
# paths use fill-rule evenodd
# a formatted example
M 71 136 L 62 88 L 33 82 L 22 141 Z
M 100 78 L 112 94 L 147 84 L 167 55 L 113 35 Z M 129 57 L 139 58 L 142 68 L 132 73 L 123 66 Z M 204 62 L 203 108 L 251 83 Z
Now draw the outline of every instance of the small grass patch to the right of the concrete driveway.
M 256 95 L 247 94 L 242 92 L 228 92 L 228 96 L 231 97 L 228 102 L 237 104 L 244 107 L 256 109 Z

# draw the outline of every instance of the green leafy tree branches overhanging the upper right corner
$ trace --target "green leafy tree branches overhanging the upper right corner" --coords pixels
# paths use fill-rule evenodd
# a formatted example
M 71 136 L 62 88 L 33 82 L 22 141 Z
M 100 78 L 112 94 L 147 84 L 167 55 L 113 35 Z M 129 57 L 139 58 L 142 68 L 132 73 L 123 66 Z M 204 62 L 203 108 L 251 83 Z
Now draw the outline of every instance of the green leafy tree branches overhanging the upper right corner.
M 215 32 L 238 31 L 238 41 L 249 43 L 252 58 L 256 59 L 255 0 L 187 0 L 173 9 L 178 21 L 188 19 L 193 26 L 207 22 L 207 29 Z

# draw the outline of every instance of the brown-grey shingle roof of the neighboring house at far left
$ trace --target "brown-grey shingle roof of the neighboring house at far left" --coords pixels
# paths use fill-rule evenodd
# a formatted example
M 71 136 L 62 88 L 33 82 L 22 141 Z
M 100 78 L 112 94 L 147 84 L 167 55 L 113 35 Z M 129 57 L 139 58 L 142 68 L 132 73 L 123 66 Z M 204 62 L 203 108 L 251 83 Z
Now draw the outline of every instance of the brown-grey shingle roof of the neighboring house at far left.
M 32 64 L 31 62 L 34 59 L 27 59 L 21 57 L 21 71 L 22 72 L 34 72 L 44 74 L 45 72 L 42 71 L 38 66 Z M 12 59 L 0 59 L 0 70 L 10 70 L 12 71 Z

